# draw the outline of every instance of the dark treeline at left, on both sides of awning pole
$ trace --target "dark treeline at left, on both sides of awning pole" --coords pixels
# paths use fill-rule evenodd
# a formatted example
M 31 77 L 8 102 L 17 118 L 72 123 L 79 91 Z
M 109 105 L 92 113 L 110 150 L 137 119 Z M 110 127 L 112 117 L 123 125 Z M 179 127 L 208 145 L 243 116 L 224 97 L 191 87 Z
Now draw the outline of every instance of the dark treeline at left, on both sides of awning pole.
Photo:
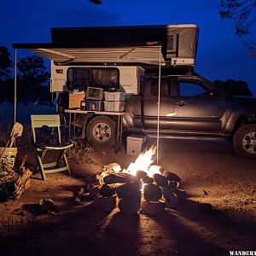
M 0 102 L 14 101 L 15 79 L 12 72 L 14 63 L 9 50 L 0 46 Z M 49 92 L 49 73 L 44 60 L 36 55 L 21 58 L 17 62 L 17 100 L 18 102 L 51 102 Z

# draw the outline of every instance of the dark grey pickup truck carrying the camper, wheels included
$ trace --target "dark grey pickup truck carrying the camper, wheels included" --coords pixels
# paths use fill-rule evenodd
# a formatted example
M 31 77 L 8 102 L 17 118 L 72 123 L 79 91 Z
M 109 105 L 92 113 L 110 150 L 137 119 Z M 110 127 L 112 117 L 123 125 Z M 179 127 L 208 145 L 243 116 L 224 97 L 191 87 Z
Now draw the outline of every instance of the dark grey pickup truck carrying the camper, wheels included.
M 175 69 L 174 69 L 175 70 Z M 139 95 L 125 100 L 125 131 L 154 135 L 158 122 L 159 78 L 149 74 Z M 89 120 L 87 138 L 96 146 L 112 146 L 116 124 L 111 116 Z M 256 157 L 256 99 L 229 96 L 194 72 L 163 73 L 160 79 L 160 136 L 226 137 L 236 153 Z

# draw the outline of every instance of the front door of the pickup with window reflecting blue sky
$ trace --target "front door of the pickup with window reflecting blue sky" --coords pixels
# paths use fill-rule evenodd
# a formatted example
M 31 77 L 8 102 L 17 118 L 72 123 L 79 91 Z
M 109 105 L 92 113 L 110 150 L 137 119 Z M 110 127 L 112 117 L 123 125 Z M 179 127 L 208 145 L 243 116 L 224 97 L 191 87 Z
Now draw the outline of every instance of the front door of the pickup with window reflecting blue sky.
M 226 119 L 226 103 L 198 79 L 177 79 L 174 97 L 175 131 L 219 133 Z

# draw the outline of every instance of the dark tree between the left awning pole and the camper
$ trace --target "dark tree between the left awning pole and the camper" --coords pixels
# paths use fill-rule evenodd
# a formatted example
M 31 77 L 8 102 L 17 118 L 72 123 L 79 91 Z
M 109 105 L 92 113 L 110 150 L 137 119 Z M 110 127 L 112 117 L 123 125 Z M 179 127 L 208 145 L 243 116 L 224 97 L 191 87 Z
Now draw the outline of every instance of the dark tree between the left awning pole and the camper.
M 36 101 L 40 98 L 42 85 L 47 84 L 49 73 L 44 60 L 36 55 L 21 58 L 17 63 L 19 88 L 18 96 L 24 102 Z

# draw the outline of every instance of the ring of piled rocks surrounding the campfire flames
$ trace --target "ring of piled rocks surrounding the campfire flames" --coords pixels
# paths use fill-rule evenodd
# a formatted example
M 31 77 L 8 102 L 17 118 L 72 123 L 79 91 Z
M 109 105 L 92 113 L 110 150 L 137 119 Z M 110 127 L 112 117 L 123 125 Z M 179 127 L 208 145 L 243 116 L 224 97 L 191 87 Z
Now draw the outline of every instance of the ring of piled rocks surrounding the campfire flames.
M 186 196 L 178 189 L 180 177 L 166 172 L 161 166 L 154 167 L 159 173 L 149 177 L 141 170 L 132 175 L 116 163 L 104 166 L 102 172 L 86 184 L 92 206 L 106 212 L 118 207 L 125 214 L 141 212 L 147 215 L 160 214 L 166 207 L 176 207 Z M 76 201 L 81 200 L 83 193 L 84 189 L 80 189 Z

